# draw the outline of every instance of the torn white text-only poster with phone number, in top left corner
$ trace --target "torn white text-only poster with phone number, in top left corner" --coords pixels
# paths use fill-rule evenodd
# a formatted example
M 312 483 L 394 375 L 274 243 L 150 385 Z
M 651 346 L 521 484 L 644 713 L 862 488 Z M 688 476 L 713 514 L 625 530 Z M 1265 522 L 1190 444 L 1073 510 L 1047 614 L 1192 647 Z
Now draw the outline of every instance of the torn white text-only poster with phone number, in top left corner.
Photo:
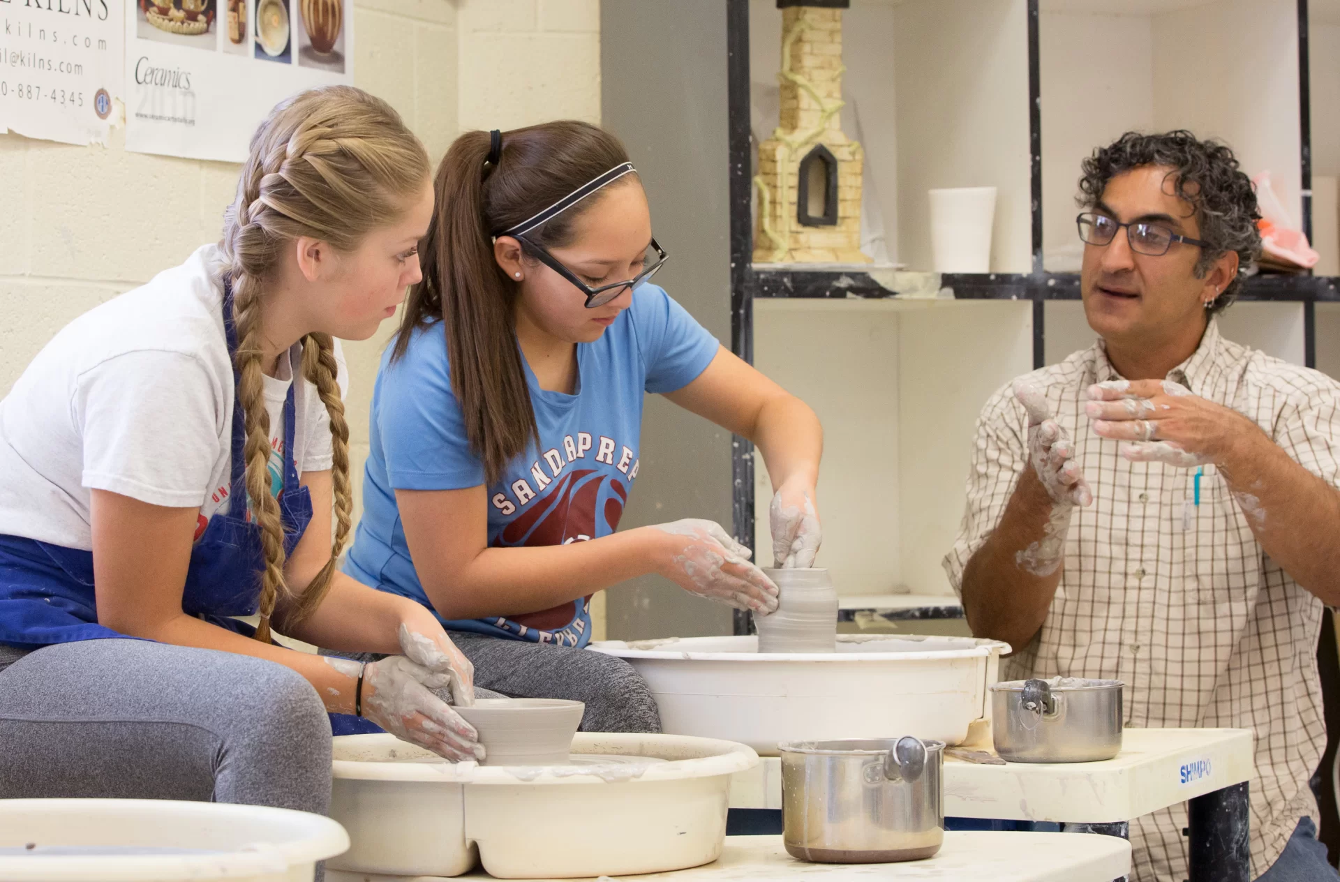
M 107 143 L 123 98 L 122 1 L 0 0 L 0 133 Z

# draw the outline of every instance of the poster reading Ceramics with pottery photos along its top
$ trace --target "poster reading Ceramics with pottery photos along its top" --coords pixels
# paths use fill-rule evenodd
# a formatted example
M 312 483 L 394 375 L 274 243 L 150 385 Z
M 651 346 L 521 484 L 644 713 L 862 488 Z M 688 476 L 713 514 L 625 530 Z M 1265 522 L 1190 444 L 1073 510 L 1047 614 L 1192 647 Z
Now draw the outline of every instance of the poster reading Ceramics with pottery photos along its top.
M 281 99 L 354 82 L 352 0 L 125 1 L 127 150 L 241 162 Z

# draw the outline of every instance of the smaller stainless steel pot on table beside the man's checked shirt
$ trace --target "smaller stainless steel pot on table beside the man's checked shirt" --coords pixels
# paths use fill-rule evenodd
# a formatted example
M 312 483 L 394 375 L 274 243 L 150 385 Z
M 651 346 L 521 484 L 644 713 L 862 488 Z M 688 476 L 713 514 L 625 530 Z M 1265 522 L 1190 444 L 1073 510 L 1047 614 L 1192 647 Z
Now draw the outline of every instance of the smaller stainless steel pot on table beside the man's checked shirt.
M 1122 751 L 1120 680 L 1014 680 L 992 686 L 996 752 L 1012 763 L 1092 763 Z

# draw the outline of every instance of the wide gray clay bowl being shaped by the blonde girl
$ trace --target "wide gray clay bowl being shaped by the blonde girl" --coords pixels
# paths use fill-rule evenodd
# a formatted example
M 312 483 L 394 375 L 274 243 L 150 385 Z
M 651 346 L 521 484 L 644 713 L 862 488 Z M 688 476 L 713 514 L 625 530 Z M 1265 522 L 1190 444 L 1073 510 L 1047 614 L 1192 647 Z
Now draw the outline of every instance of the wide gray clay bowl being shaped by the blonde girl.
M 586 705 L 565 698 L 480 698 L 456 712 L 480 733 L 484 765 L 564 765 Z

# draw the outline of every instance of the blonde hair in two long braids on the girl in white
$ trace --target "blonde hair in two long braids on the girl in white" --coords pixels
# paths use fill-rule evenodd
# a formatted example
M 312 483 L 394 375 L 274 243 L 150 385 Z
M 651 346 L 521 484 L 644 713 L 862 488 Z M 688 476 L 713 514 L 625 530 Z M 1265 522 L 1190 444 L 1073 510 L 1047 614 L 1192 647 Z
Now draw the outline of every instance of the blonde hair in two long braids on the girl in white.
M 320 605 L 348 539 L 352 511 L 348 425 L 336 383 L 335 344 L 328 334 L 308 334 L 302 339 L 302 370 L 330 414 L 336 527 L 330 560 L 302 594 L 291 592 L 284 582 L 284 527 L 269 495 L 269 414 L 261 378 L 265 283 L 284 247 L 300 236 L 338 252 L 356 249 L 370 231 L 403 216 L 429 172 L 423 145 L 385 101 L 351 86 L 314 88 L 280 103 L 256 130 L 237 196 L 224 213 L 220 248 L 237 326 L 247 497 L 265 556 L 259 641 L 269 641 L 271 615 L 281 594 L 292 601 L 288 622 L 300 622 Z

